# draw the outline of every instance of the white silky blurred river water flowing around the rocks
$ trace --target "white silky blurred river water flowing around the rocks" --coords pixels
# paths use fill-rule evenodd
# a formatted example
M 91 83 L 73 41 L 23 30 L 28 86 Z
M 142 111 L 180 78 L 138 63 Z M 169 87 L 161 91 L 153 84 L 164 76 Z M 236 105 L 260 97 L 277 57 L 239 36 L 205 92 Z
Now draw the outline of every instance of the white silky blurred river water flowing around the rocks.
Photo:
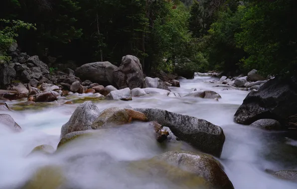
M 296 189 L 297 184 L 271 176 L 266 169 L 297 168 L 296 141 L 284 132 L 268 132 L 233 122 L 233 115 L 247 91 L 213 87 L 210 77 L 181 80 L 172 92 L 187 94 L 193 88 L 219 93 L 219 101 L 191 97 L 145 96 L 132 101 L 101 100 L 102 111 L 111 106 L 152 107 L 206 119 L 223 128 L 226 140 L 219 161 L 235 189 Z M 59 166 L 69 189 L 185 189 L 166 178 L 133 173 L 129 162 L 149 159 L 166 150 L 194 150 L 184 143 L 161 148 L 148 127 L 141 123 L 102 130 L 97 137 L 79 140 L 53 156 L 27 156 L 42 144 L 56 148 L 61 126 L 78 104 L 43 110 L 0 111 L 9 113 L 22 127 L 12 133 L 0 127 L 0 189 L 19 189 L 40 167 Z M 128 162 L 128 163 L 127 163 Z M 68 189 L 67 188 L 67 189 Z M 46 189 L 46 187 L 42 187 Z M 49 187 L 50 189 L 50 187 Z

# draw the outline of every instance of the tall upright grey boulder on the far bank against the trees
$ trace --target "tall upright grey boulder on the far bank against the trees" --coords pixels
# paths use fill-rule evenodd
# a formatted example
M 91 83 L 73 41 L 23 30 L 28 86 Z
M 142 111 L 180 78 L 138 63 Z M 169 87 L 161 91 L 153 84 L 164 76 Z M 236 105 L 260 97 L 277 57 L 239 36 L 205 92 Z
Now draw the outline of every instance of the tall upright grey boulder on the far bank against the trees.
M 137 57 L 127 55 L 122 58 L 122 64 L 114 71 L 114 78 L 119 89 L 144 88 L 144 73 Z

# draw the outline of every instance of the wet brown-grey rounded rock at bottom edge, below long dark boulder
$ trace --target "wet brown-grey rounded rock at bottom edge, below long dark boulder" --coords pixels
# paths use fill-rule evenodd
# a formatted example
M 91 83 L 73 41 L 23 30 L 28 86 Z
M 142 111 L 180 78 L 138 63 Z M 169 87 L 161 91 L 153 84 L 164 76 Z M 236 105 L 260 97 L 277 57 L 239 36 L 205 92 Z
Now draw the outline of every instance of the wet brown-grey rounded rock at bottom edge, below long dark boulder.
M 173 166 L 204 178 L 215 189 L 234 189 L 231 181 L 221 169 L 217 160 L 209 155 L 186 151 L 170 151 L 154 158 L 166 161 Z

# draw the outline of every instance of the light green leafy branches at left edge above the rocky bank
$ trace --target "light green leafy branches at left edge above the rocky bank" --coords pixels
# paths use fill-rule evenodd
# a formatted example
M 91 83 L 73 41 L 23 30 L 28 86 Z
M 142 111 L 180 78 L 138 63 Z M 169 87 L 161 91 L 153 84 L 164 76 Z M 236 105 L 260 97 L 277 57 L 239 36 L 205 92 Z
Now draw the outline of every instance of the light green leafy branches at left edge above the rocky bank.
M 17 31 L 21 28 L 24 29 L 36 29 L 33 24 L 25 23 L 20 20 L 5 20 L 0 19 L 4 25 L 0 29 L 0 61 L 8 61 L 11 57 L 7 56 L 6 51 L 10 48 L 12 43 L 15 42 L 15 38 L 18 36 Z

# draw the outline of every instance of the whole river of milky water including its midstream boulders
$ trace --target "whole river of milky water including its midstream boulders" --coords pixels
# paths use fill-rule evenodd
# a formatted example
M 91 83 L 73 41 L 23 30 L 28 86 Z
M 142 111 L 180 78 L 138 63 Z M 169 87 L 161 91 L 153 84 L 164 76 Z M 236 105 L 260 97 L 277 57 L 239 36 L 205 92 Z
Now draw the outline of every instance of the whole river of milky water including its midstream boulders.
M 219 82 L 2 100 L 0 188 L 295 189 L 296 135 L 235 123 L 249 92 Z

